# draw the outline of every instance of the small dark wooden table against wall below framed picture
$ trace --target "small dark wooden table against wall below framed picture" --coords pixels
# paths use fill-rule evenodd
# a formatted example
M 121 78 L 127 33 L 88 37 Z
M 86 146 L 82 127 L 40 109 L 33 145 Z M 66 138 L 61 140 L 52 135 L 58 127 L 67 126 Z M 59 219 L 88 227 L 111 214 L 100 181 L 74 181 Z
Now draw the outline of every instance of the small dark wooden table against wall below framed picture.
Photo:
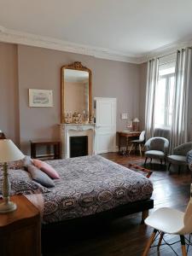
M 61 158 L 61 143 L 56 140 L 32 140 L 31 143 L 31 157 L 32 158 L 52 158 L 60 159 Z M 37 155 L 38 146 L 53 146 L 53 154 Z

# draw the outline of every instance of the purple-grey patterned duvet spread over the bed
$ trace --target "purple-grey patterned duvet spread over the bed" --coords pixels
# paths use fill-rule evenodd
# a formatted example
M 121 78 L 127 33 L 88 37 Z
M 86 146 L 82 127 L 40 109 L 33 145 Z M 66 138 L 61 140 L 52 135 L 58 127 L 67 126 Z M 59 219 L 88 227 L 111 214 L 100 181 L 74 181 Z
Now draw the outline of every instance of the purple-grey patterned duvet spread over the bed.
M 132 201 L 149 199 L 148 178 L 99 155 L 47 161 L 59 173 L 44 197 L 43 223 L 79 218 Z

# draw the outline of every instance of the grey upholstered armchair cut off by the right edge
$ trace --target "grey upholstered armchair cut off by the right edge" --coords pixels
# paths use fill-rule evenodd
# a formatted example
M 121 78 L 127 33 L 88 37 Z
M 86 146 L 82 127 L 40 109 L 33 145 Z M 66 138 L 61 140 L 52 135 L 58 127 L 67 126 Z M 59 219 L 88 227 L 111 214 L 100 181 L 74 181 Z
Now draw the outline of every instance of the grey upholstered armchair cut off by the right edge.
M 181 166 L 187 165 L 187 154 L 192 149 L 192 143 L 183 143 L 173 149 L 173 154 L 167 157 L 169 162 L 168 170 L 170 171 L 171 165 L 178 166 L 178 173 L 181 171 Z

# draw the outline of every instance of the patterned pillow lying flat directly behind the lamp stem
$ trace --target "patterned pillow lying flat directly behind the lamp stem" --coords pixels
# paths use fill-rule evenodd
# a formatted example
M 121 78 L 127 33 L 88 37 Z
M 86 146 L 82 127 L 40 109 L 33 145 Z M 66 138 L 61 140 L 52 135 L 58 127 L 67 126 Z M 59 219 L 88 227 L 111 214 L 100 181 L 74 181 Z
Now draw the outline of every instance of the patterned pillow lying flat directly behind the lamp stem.
M 23 170 L 9 171 L 9 182 L 11 184 L 10 195 L 18 194 L 40 194 L 50 190 L 32 180 L 29 173 Z M 0 195 L 3 194 L 3 172 L 0 172 Z

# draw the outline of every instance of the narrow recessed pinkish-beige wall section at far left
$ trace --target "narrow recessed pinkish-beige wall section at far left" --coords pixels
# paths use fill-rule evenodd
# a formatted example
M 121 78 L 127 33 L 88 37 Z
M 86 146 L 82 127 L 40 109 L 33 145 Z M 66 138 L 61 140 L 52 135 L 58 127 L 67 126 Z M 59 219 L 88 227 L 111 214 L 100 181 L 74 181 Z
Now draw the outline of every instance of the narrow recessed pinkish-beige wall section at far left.
M 0 130 L 19 145 L 17 46 L 0 43 Z

